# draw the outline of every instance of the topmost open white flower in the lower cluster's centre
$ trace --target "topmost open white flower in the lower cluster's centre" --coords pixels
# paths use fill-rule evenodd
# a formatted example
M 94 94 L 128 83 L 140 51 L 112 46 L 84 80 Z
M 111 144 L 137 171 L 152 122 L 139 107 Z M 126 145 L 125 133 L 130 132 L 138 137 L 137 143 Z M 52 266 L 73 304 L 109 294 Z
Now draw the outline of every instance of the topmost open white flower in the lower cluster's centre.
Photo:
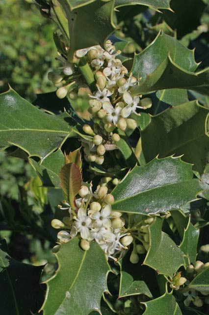
M 93 212 L 90 215 L 90 218 L 95 220 L 93 223 L 94 228 L 101 227 L 110 227 L 111 221 L 109 220 L 111 214 L 111 207 L 109 205 L 105 205 L 101 211 Z

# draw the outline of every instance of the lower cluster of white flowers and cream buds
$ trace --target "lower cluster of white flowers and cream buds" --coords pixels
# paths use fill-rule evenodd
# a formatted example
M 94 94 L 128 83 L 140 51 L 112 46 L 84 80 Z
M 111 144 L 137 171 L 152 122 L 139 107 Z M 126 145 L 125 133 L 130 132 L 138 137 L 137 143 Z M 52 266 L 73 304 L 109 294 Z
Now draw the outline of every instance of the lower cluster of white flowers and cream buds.
M 107 258 L 117 260 L 113 255 L 128 249 L 133 238 L 125 228 L 125 220 L 120 212 L 111 211 L 114 202 L 112 194 L 107 193 L 106 187 L 98 186 L 93 192 L 90 186 L 82 186 L 76 199 L 77 209 L 72 210 L 68 202 L 61 210 L 68 210 L 69 216 L 62 221 L 52 220 L 54 228 L 64 228 L 57 234 L 59 244 L 70 241 L 80 235 L 80 246 L 83 250 L 89 249 L 89 241 L 95 240 L 104 250 Z

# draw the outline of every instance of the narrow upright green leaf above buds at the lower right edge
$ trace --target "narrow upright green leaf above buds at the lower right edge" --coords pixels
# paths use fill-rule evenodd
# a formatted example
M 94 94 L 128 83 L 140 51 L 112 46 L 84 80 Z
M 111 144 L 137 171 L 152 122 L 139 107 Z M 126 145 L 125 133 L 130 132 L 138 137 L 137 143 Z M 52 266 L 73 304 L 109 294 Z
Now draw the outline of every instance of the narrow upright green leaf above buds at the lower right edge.
M 184 230 L 183 241 L 180 245 L 180 249 L 185 254 L 186 264 L 194 264 L 197 256 L 197 242 L 199 238 L 200 230 L 196 229 L 194 225 L 188 222 L 186 229 Z

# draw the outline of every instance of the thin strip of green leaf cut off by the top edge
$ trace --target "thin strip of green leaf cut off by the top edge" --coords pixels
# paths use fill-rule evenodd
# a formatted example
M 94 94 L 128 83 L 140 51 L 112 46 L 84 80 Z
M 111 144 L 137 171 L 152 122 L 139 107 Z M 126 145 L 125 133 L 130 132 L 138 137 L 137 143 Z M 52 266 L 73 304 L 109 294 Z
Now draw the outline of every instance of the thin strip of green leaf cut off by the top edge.
M 134 5 L 141 4 L 153 7 L 155 9 L 170 9 L 170 0 L 115 0 L 115 7 L 120 7 L 124 5 Z

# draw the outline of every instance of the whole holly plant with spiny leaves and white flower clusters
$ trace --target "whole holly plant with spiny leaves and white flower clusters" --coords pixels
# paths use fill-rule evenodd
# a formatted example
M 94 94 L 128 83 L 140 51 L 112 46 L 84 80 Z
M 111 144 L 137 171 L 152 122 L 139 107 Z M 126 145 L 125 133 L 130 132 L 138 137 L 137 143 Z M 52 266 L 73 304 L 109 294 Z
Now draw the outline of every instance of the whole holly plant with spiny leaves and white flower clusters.
M 209 314 L 209 69 L 189 49 L 207 1 L 36 2 L 57 26 L 55 91 L 0 95 L 0 147 L 40 179 L 0 213 L 57 267 L 40 284 L 47 265 L 3 240 L 2 314 Z

